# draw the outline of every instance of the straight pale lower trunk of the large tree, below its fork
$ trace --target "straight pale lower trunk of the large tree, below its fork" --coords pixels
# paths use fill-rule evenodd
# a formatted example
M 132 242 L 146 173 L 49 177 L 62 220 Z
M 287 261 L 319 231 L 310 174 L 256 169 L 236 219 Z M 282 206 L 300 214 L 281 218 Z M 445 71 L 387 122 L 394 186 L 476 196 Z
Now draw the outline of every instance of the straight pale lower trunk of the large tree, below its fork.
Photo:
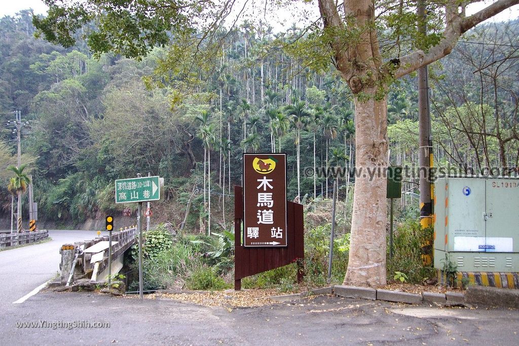
M 351 246 L 344 284 L 386 284 L 387 103 L 374 97 L 355 98 L 356 168 L 361 169 L 353 193 Z

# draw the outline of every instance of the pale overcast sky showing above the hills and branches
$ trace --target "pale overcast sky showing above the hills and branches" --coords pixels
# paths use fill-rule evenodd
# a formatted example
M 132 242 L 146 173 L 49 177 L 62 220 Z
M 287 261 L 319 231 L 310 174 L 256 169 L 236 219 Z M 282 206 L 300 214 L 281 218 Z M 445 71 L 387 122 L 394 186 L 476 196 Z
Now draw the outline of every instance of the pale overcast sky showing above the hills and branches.
M 24 10 L 24 9 L 29 9 L 29 8 L 32 8 L 36 14 L 45 14 L 48 9 L 48 7 L 43 3 L 42 0 L 0 0 L 0 2 L 2 3 L 0 5 L 0 18 L 2 18 L 4 16 L 13 16 L 13 15 L 15 15 L 16 12 L 18 12 L 20 10 Z M 255 2 L 256 1 L 252 0 L 249 3 L 252 4 L 253 7 L 256 7 L 256 6 L 254 6 Z M 486 6 L 485 4 L 490 4 L 492 2 L 493 1 L 487 0 L 482 3 L 470 5 L 470 7 L 467 9 L 467 15 L 471 15 L 472 13 L 476 12 L 477 10 L 484 8 Z M 315 10 L 316 10 L 316 15 L 317 15 L 317 7 L 315 8 Z M 281 10 L 281 11 L 283 11 L 283 10 Z M 277 14 L 278 14 L 278 16 L 281 15 L 281 13 L 279 13 L 279 12 Z M 507 21 L 509 19 L 515 19 L 518 16 L 519 16 L 519 5 L 515 5 L 511 9 L 501 12 L 498 16 L 496 16 L 494 18 L 494 20 Z M 255 16 L 255 17 L 257 17 L 257 16 Z M 284 17 L 284 16 L 281 15 L 280 17 Z M 280 18 L 280 17 L 277 17 L 276 19 L 274 19 L 274 21 L 284 21 L 286 26 L 291 26 L 292 23 L 290 23 L 290 21 L 292 21 L 292 19 L 294 18 L 293 15 L 287 16 L 288 18 Z M 270 18 L 266 18 L 266 19 L 269 21 L 272 20 Z M 274 26 L 277 26 L 277 25 L 274 25 Z

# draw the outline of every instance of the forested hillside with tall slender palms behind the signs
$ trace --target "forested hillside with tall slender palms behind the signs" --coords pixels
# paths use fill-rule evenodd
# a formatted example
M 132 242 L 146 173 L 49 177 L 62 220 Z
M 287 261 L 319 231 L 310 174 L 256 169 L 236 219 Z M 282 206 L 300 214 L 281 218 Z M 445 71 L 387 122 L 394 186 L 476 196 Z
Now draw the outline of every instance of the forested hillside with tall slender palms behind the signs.
M 517 83 L 510 78 L 517 59 L 511 54 L 516 38 L 498 38 L 494 33 L 513 32 L 517 23 L 493 25 L 471 33 L 475 43 L 462 42 L 445 60 L 445 67 L 436 66 L 432 73 L 434 90 L 438 90 L 432 99 L 438 105 L 433 138 L 435 157 L 441 163 L 516 164 L 517 100 L 513 94 Z M 344 152 L 344 164 L 354 164 L 353 112 L 339 77 L 327 68 L 318 73 L 304 67 L 288 48 L 264 54 L 269 42 L 298 37 L 295 27 L 274 34 L 271 28 L 245 22 L 225 37 L 220 53 L 210 57 L 208 64 L 217 68 L 200 75 L 203 82 L 193 84 L 195 89 L 188 93 L 181 86 L 188 79 L 163 79 L 161 66 L 168 63 L 167 49 L 155 48 L 139 62 L 111 54 L 94 59 L 79 36 L 67 50 L 32 37 L 28 11 L 1 19 L 0 33 L 0 117 L 7 122 L 12 116 L 4 113 L 20 109 L 23 118 L 32 122 L 22 138 L 23 162 L 35 161 L 30 168 L 43 218 L 80 222 L 117 213 L 122 206 L 113 204 L 113 181 L 151 172 L 165 177 L 165 200 L 176 202 L 161 205 L 165 210 L 162 221 L 180 224 L 183 206 L 198 187 L 186 225 L 189 229 L 207 227 L 204 202 L 210 184 L 212 230 L 220 232 L 226 226 L 224 213 L 230 211 L 223 204 L 231 197 L 222 194 L 231 194 L 230 187 L 239 183 L 244 150 L 289 154 L 290 199 L 298 194 L 313 197 L 314 191 L 331 196 L 331 179 L 317 177 L 314 186 L 313 176 L 303 173 L 314 165 L 331 165 L 334 150 Z M 494 48 L 491 54 L 486 53 L 489 48 Z M 470 72 L 463 74 L 462 88 L 450 87 L 457 80 L 456 70 L 470 71 L 470 66 L 462 65 L 485 54 L 489 59 L 508 57 L 494 71 L 497 103 L 488 97 L 491 88 L 479 85 Z M 471 59 L 459 59 L 464 55 Z M 148 88 L 161 78 L 162 88 Z M 491 80 L 486 82 L 491 85 Z M 417 161 L 414 83 L 413 78 L 403 80 L 389 92 L 393 163 Z M 203 111 L 206 115 L 201 118 Z M 494 112 L 502 114 L 497 118 L 500 123 L 489 119 Z M 482 120 L 486 128 L 476 128 Z M 12 139 L 7 129 L 0 136 L 4 141 Z M 304 153 L 299 160 L 297 147 Z M 314 148 L 315 156 L 310 154 Z M 13 149 L 7 147 L 5 154 L 11 164 Z M 5 176 L 4 186 L 9 178 Z M 340 179 L 339 198 L 349 198 L 351 191 L 347 179 Z M 3 195 L 10 199 L 7 189 Z

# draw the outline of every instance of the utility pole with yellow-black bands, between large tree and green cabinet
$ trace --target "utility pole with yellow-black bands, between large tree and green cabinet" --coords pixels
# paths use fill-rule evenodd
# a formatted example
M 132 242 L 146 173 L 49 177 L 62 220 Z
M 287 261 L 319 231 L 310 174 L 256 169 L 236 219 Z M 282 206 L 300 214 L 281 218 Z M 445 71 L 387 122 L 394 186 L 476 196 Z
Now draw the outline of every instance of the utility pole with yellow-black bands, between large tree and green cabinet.
M 425 1 L 420 0 L 417 6 L 418 30 L 422 35 L 427 34 Z M 431 112 L 429 102 L 429 74 L 427 65 L 418 69 L 418 163 L 420 171 L 420 225 L 428 228 L 432 222 L 432 193 L 431 167 L 432 136 L 431 136 Z M 424 264 L 432 263 L 432 239 L 422 244 L 422 259 Z

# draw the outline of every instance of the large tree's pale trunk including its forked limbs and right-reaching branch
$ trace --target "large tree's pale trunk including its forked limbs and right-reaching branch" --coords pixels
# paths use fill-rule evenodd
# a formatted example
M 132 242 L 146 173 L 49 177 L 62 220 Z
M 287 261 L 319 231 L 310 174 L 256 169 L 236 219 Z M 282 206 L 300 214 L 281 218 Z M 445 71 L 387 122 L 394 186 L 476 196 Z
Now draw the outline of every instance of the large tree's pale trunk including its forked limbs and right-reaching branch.
M 344 0 L 344 7 L 332 0 L 318 0 L 325 27 L 331 32 L 358 31 L 353 41 L 338 34 L 330 41 L 334 64 L 355 98 L 356 167 L 363 169 L 353 193 L 351 247 L 345 284 L 377 286 L 386 283 L 386 178 L 370 175 L 366 169 L 387 169 L 387 99 L 381 92 L 388 85 L 388 73 L 403 77 L 420 66 L 428 65 L 449 54 L 461 34 L 474 25 L 519 3 L 519 0 L 497 0 L 486 8 L 465 17 L 454 1 L 445 6 L 445 30 L 437 45 L 427 52 L 415 50 L 383 65 L 376 32 L 374 2 Z M 342 13 L 344 10 L 344 13 Z M 340 11 L 340 13 L 339 13 Z M 346 15 L 347 21 L 344 21 Z M 391 71 L 394 68 L 393 71 Z M 377 85 L 380 87 L 377 95 Z M 364 102 L 361 102 L 362 98 Z M 367 99 L 367 100 L 366 100 Z

